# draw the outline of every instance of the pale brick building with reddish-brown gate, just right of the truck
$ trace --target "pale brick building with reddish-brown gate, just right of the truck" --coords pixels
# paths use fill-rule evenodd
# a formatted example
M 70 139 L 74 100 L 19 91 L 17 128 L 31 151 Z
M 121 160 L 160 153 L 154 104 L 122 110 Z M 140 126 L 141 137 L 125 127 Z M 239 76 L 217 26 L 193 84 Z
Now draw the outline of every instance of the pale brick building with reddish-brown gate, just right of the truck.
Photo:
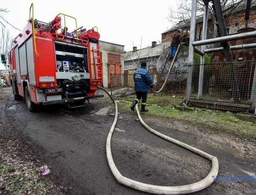
M 124 46 L 100 40 L 102 55 L 103 87 L 108 87 L 110 74 L 124 73 Z

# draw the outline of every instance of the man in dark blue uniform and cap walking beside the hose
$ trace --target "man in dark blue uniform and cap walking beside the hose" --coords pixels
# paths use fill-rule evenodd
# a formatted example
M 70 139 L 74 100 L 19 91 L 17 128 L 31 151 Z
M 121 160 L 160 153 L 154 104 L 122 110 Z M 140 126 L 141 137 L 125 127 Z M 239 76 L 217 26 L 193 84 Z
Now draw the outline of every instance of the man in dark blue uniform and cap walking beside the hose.
M 146 69 L 147 63 L 145 61 L 141 62 L 141 67 L 137 69 L 133 75 L 134 79 L 134 89 L 136 92 L 136 98 L 131 105 L 131 110 L 134 111 L 135 105 L 141 101 L 141 112 L 148 112 L 148 109 L 145 109 L 148 87 L 153 88 L 153 82 L 151 76 Z

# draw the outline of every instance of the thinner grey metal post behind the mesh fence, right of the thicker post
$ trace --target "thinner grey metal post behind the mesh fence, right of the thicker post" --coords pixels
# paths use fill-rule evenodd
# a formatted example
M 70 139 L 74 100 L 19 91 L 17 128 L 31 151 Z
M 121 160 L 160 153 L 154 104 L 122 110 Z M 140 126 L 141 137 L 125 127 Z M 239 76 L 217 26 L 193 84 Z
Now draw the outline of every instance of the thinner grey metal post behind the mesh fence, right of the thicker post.
M 204 5 L 204 12 L 203 12 L 203 23 L 202 23 L 202 40 L 206 40 L 207 37 L 207 23 L 208 23 L 208 8 L 209 5 Z M 201 46 L 201 51 L 205 50 L 205 45 Z M 205 54 L 201 55 L 201 65 L 200 65 L 200 71 L 199 71 L 199 83 L 198 83 L 198 94 L 197 98 L 202 98 L 202 85 L 203 85 L 203 73 L 204 73 L 204 60 L 205 60 Z

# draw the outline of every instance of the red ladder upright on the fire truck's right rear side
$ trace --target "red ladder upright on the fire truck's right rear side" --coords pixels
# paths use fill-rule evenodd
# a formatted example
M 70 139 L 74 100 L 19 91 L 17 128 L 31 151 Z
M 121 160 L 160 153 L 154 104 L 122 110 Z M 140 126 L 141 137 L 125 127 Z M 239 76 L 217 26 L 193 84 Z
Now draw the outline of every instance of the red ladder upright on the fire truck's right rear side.
M 99 49 L 92 48 L 93 53 L 93 78 L 91 83 L 100 85 L 102 81 L 101 53 Z

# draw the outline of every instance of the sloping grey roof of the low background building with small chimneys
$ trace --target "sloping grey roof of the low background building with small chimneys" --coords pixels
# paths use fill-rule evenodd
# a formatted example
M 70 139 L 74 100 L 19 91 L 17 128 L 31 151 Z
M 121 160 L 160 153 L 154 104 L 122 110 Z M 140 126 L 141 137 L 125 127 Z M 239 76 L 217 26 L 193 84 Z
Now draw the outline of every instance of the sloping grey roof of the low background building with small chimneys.
M 155 47 L 145 47 L 137 50 L 137 52 L 129 51 L 124 54 L 124 61 L 136 60 L 138 55 L 140 59 L 148 58 L 153 56 L 158 56 L 161 53 L 161 44 L 156 45 Z

